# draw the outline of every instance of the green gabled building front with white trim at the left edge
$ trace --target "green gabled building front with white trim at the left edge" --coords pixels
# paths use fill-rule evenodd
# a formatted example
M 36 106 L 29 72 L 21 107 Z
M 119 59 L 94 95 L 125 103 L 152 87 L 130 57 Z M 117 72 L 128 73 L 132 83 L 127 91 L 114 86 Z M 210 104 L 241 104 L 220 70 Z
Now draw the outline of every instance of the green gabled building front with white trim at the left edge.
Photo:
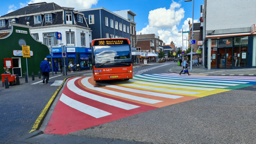
M 40 71 L 40 62 L 50 53 L 49 48 L 41 42 L 35 40 L 29 31 L 31 26 L 11 23 L 11 30 L 5 37 L 0 38 L 0 73 L 4 72 L 4 59 L 10 59 L 7 67 L 11 74 L 24 76 L 27 72 L 35 75 Z M 30 47 L 30 57 L 23 57 L 22 45 Z M 26 67 L 27 59 L 27 67 Z M 28 70 L 26 70 L 28 69 Z

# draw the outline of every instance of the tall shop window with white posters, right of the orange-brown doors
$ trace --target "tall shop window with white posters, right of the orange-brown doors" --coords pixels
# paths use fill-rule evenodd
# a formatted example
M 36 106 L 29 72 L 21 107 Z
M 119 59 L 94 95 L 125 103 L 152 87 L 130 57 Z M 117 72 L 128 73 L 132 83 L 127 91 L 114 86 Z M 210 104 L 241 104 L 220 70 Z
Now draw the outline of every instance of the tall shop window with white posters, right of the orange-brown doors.
M 233 65 L 234 67 L 247 66 L 248 36 L 234 37 Z

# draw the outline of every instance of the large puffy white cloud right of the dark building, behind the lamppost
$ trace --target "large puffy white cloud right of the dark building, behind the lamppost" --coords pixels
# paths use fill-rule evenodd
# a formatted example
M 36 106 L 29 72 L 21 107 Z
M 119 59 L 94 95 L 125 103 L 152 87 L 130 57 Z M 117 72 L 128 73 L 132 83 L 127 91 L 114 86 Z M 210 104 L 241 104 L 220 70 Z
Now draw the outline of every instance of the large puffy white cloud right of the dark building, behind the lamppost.
M 148 22 L 146 27 L 139 31 L 141 34 L 155 33 L 160 37 L 165 44 L 170 44 L 171 41 L 176 46 L 182 46 L 182 33 L 181 29 L 177 28 L 182 18 L 184 18 L 184 9 L 180 8 L 180 4 L 172 1 L 169 9 L 157 8 L 149 11 Z M 188 20 L 192 21 L 192 18 L 187 18 L 182 23 L 183 31 L 189 30 Z M 197 19 L 194 22 L 198 21 Z M 183 39 L 188 37 L 187 33 L 183 33 Z M 183 47 L 186 48 L 186 40 L 183 40 Z

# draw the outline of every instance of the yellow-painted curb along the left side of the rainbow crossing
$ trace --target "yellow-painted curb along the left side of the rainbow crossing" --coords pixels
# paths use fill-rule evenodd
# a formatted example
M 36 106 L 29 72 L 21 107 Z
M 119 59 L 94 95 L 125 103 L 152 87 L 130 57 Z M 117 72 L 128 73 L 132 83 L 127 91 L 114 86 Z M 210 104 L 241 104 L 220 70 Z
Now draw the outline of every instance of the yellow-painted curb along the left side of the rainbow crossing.
M 45 107 L 42 109 L 41 113 L 39 114 L 39 116 L 37 117 L 37 119 L 35 120 L 31 130 L 29 131 L 29 133 L 38 130 L 40 125 L 42 124 L 42 121 L 46 115 L 46 113 L 48 112 L 51 104 L 53 103 L 54 99 L 56 98 L 56 95 L 58 94 L 58 92 L 60 91 L 60 89 L 62 88 L 63 84 L 65 83 L 67 78 L 70 77 L 74 77 L 74 76 L 79 76 L 79 75 L 83 75 L 83 74 L 78 74 L 78 75 L 71 75 L 71 76 L 67 76 L 63 79 L 63 82 L 61 83 L 61 85 L 59 85 L 58 89 L 54 92 L 54 94 L 51 96 L 51 98 L 49 99 L 49 101 L 47 102 L 47 104 L 45 105 Z

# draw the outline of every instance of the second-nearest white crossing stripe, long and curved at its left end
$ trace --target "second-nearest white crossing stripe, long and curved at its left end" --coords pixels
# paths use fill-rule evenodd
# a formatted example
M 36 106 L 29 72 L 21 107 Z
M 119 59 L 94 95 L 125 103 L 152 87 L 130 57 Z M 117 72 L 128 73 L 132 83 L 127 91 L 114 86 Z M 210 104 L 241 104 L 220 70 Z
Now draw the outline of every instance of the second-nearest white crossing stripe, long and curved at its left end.
M 108 104 L 108 105 L 112 105 L 112 106 L 115 106 L 115 107 L 126 109 L 126 110 L 139 107 L 137 105 L 121 102 L 121 101 L 118 101 L 118 100 L 102 97 L 102 96 L 99 96 L 99 95 L 96 95 L 96 94 L 92 94 L 92 93 L 83 91 L 83 90 L 79 89 L 78 87 L 76 87 L 75 84 L 74 84 L 74 81 L 78 78 L 80 78 L 80 77 L 75 77 L 71 80 L 68 80 L 68 82 L 66 83 L 67 88 L 69 90 L 73 91 L 74 93 L 78 94 L 78 95 L 81 95 L 83 97 L 87 97 L 87 98 L 90 98 L 90 99 L 93 99 L 93 100 L 96 100 L 96 101 L 99 101 L 99 102 L 102 102 L 102 103 L 105 103 L 105 104 Z

